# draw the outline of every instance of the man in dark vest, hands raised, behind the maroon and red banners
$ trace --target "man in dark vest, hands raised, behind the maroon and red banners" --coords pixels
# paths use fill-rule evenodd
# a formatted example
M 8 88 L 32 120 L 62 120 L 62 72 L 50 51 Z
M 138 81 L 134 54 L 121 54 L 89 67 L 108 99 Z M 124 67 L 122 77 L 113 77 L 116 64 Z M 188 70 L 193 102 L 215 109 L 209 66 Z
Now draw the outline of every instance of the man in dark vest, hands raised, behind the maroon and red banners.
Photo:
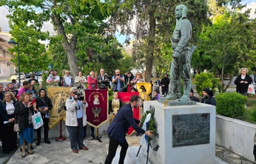
M 125 77 L 123 75 L 120 75 L 120 70 L 115 70 L 115 73 L 116 74 L 112 77 L 113 91 L 124 92 Z

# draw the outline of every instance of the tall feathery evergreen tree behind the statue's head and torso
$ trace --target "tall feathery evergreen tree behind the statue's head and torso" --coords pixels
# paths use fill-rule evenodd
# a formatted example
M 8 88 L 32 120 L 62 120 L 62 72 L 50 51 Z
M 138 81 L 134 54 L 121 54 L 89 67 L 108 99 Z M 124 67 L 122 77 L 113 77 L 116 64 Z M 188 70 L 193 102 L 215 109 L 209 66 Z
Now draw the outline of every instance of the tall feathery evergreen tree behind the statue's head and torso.
M 146 66 L 145 81 L 150 81 L 152 67 L 158 77 L 162 72 L 169 72 L 172 59 L 170 39 L 175 28 L 174 9 L 178 4 L 188 8 L 188 19 L 193 26 L 192 41 L 196 43 L 196 33 L 201 31 L 202 24 L 208 24 L 208 7 L 203 0 L 126 0 L 118 1 L 117 11 L 112 15 L 110 24 L 121 28 L 120 33 L 127 36 L 129 43 L 134 36 L 133 58 L 134 65 L 139 68 Z M 135 17 L 136 16 L 136 17 Z M 136 18 L 136 31 L 133 29 Z

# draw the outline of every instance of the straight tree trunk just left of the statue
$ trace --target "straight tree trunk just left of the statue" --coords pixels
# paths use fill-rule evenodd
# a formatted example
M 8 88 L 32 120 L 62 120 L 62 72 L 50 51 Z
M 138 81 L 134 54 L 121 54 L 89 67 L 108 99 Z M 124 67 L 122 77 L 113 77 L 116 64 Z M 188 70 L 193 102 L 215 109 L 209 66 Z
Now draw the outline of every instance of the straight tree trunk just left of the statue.
M 154 59 L 154 37 L 156 31 L 156 19 L 154 18 L 154 11 L 150 12 L 149 15 L 149 35 L 148 35 L 148 53 L 146 56 L 146 72 L 145 72 L 145 82 L 151 81 L 151 73 L 152 73 L 152 66 L 153 66 L 153 59 Z

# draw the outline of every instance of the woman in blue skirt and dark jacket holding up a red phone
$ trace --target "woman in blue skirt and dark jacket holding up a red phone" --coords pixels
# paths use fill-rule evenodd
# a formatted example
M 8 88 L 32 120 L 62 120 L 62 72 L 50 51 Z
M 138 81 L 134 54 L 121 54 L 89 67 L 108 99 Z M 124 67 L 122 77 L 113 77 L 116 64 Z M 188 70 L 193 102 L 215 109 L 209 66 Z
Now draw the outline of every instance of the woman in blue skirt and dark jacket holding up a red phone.
M 22 148 L 22 158 L 26 157 L 26 149 L 25 149 L 25 141 L 28 143 L 28 150 L 29 154 L 34 154 L 31 151 L 30 146 L 33 143 L 34 137 L 34 128 L 32 123 L 32 115 L 34 111 L 37 111 L 37 103 L 32 104 L 30 101 L 30 95 L 27 92 L 23 92 L 19 97 L 19 102 L 14 104 L 15 114 L 18 118 L 19 124 L 19 136 L 20 141 L 19 145 Z

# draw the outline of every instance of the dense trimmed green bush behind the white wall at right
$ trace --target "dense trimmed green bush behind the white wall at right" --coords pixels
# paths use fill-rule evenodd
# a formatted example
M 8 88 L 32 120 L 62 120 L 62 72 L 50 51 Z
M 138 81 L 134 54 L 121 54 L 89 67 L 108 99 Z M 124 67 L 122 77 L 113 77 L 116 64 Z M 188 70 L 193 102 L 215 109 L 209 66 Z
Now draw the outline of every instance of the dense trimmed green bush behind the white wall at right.
M 231 118 L 244 114 L 247 97 L 239 93 L 219 93 L 216 95 L 216 111 Z

